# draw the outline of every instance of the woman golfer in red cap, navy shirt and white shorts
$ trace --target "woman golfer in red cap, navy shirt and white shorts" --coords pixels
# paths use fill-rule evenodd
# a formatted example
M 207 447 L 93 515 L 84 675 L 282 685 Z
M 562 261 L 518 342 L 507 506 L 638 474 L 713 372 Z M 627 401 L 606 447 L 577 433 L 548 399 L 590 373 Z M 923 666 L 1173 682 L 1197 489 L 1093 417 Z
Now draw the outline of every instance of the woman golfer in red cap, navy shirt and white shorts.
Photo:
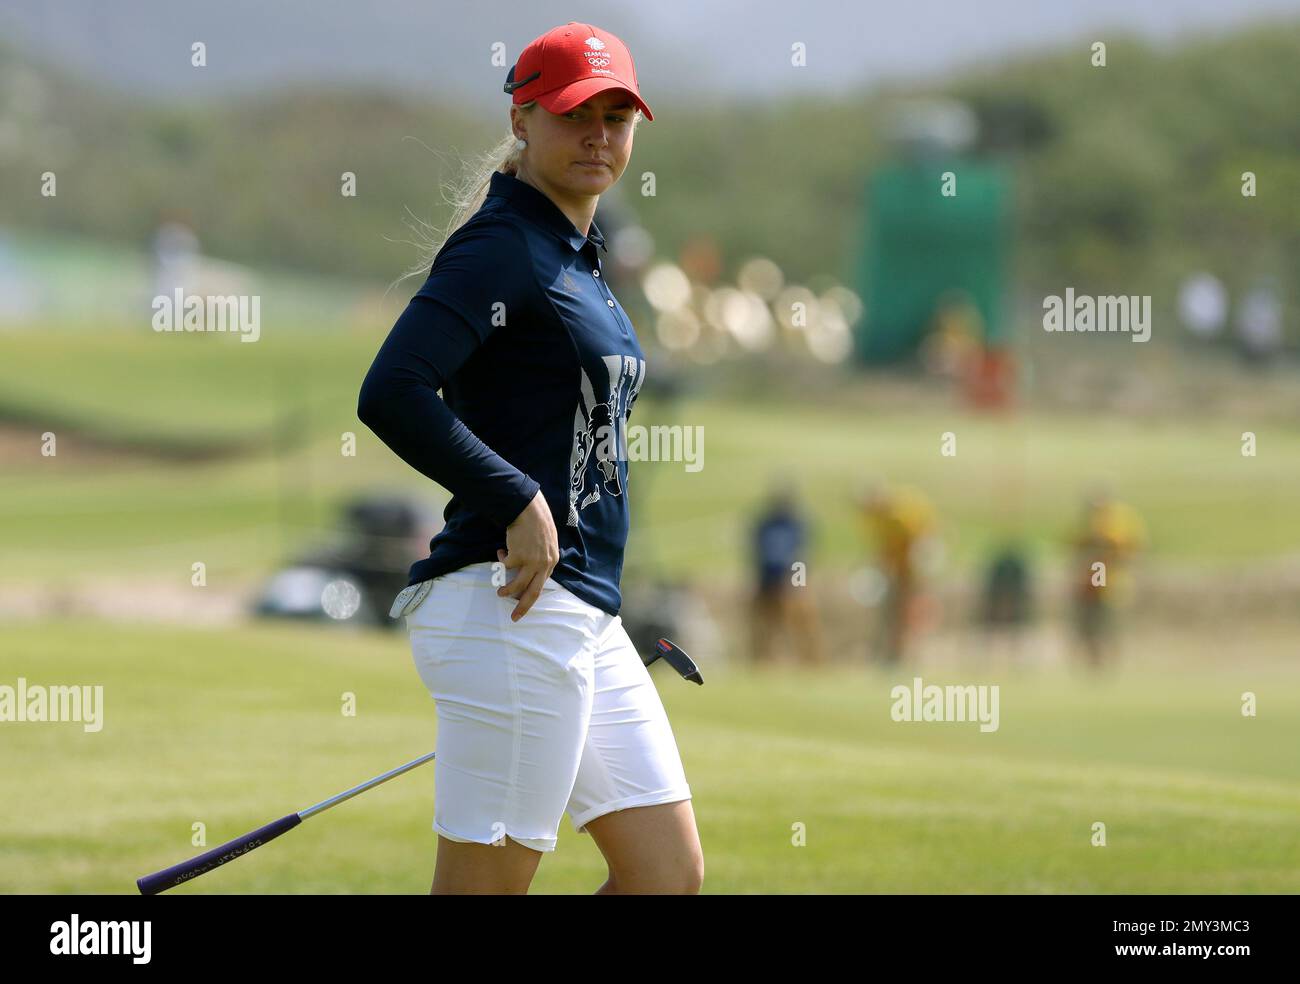
M 619 617 L 646 361 L 592 221 L 654 116 L 627 45 L 588 23 L 532 42 L 506 91 L 512 134 L 358 402 L 452 493 L 393 606 L 437 702 L 433 892 L 525 893 L 568 812 L 608 864 L 598 894 L 696 893 L 690 786 Z

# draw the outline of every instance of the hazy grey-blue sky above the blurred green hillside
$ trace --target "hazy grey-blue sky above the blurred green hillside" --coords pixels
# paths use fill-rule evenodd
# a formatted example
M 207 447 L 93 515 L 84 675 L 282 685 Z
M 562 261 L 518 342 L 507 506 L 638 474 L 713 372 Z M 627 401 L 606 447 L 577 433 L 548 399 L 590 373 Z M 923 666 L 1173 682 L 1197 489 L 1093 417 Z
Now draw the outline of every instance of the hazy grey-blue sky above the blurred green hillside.
M 4 0 L 0 32 L 101 83 L 139 94 L 220 94 L 283 78 L 376 81 L 500 105 L 504 68 L 567 21 L 632 48 L 658 104 L 844 91 L 941 73 L 1010 52 L 1136 32 L 1170 40 L 1269 16 L 1300 0 Z M 203 40 L 208 66 L 190 66 Z M 807 45 L 806 68 L 790 44 Z

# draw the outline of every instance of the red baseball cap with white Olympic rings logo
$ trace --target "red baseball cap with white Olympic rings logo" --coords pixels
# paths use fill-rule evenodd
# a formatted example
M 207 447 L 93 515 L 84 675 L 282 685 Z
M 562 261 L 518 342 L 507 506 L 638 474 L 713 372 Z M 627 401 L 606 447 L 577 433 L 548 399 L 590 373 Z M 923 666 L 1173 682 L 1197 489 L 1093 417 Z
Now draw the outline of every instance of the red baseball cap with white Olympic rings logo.
M 532 40 L 504 86 L 515 105 L 536 99 L 551 113 L 567 113 L 607 88 L 625 90 L 646 120 L 654 120 L 637 88 L 628 45 L 608 31 L 577 21 Z

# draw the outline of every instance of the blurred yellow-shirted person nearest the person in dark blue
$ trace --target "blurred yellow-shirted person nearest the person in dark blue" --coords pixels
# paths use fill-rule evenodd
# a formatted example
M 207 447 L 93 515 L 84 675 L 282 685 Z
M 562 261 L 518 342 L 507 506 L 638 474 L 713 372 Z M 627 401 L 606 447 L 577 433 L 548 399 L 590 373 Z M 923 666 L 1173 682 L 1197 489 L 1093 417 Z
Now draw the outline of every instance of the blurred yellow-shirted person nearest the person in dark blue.
M 922 577 L 922 552 L 933 542 L 936 516 L 916 489 L 868 486 L 859 497 L 863 532 L 875 545 L 876 563 L 885 580 L 880 604 L 876 658 L 897 666 L 930 604 Z

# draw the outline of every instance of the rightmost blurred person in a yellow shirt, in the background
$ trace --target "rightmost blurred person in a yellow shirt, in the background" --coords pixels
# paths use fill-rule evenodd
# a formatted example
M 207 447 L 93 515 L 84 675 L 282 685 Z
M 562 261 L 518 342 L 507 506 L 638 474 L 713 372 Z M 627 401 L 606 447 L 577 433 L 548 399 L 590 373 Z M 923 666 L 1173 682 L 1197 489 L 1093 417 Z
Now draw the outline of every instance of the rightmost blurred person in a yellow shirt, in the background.
M 1131 563 L 1147 546 L 1147 528 L 1132 506 L 1097 489 L 1084 500 L 1070 545 L 1075 630 L 1084 659 L 1097 669 L 1118 653 L 1117 611 L 1132 601 Z

